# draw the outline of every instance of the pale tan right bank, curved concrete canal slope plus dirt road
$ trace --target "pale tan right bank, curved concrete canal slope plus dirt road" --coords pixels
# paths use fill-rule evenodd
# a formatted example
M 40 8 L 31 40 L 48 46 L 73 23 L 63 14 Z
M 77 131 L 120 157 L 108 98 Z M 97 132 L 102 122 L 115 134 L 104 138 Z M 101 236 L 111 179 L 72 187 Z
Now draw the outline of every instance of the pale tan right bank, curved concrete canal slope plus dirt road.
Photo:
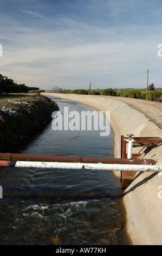
M 120 136 L 133 133 L 134 136 L 158 136 L 162 138 L 160 102 L 107 97 L 98 95 L 45 94 L 81 102 L 85 105 L 110 111 L 111 127 L 114 133 L 114 157 L 120 157 Z M 129 101 L 129 102 L 128 102 Z M 143 102 L 143 103 L 142 103 Z M 156 106 L 155 106 L 156 105 Z M 137 148 L 134 153 L 138 153 Z M 154 159 L 162 164 L 162 145 L 147 154 L 146 159 Z M 116 174 L 118 175 L 118 174 Z M 127 231 L 133 245 L 162 244 L 162 174 L 138 173 L 132 184 L 124 191 Z

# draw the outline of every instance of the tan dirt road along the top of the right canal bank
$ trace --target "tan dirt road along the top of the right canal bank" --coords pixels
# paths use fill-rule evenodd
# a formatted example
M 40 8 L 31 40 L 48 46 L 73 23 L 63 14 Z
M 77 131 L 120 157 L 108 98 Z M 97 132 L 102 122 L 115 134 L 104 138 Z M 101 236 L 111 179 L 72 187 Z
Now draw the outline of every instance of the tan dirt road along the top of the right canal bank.
M 137 109 L 142 114 L 146 115 L 153 123 L 158 125 L 162 129 L 162 102 L 150 101 L 150 100 L 140 100 L 132 99 L 127 97 L 113 97 L 113 96 L 103 96 L 110 97 L 110 99 L 120 100 L 127 103 L 128 106 Z

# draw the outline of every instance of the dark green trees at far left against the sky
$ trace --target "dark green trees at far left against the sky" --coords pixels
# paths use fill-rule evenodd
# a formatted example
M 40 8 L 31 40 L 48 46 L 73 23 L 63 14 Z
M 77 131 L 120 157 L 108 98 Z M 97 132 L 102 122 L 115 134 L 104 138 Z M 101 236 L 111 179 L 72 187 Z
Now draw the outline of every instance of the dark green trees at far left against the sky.
M 2 93 L 28 93 L 29 90 L 39 90 L 38 87 L 29 87 L 25 84 L 17 84 L 14 80 L 0 74 L 0 94 Z

